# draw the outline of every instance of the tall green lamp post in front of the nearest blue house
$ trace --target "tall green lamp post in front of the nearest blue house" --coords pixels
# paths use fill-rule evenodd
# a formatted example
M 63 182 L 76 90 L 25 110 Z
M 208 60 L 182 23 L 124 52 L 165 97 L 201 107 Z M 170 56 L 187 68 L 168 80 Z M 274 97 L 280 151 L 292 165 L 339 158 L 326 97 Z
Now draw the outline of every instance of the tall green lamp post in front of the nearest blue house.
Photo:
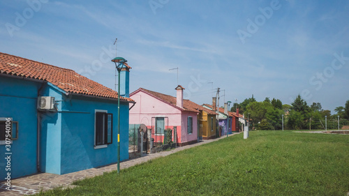
M 120 72 L 122 68 L 126 68 L 125 64 L 126 59 L 122 57 L 115 57 L 112 59 L 112 62 L 115 63 L 118 73 L 118 88 L 117 88 L 117 173 L 120 172 Z

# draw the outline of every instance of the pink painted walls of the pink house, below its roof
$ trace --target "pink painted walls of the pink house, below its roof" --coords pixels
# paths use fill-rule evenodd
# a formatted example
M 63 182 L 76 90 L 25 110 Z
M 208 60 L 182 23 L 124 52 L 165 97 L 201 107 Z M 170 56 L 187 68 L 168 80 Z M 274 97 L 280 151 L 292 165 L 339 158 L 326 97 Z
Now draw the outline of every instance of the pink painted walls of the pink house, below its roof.
M 150 96 L 143 91 L 132 94 L 130 98 L 136 102 L 135 106 L 130 110 L 130 124 L 143 123 L 148 128 L 151 128 L 152 117 L 168 117 L 168 123 L 165 119 L 165 128 L 171 128 L 173 130 L 173 126 L 177 126 L 178 143 L 197 140 L 198 126 L 196 112 L 181 112 L 178 108 L 172 107 L 168 103 L 164 103 L 162 100 Z M 188 135 L 187 131 L 188 116 L 193 117 L 193 134 L 191 135 Z M 153 126 L 155 126 L 154 119 Z M 153 138 L 155 138 L 156 142 L 159 140 L 158 137 Z

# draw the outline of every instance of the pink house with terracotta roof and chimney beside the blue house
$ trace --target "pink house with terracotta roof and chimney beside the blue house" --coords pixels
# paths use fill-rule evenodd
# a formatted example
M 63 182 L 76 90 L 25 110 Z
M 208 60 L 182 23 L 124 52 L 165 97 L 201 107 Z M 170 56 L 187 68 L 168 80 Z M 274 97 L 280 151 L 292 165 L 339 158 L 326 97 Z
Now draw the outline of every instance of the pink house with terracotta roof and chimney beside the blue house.
M 164 130 L 177 130 L 176 142 L 179 146 L 198 142 L 198 114 L 200 105 L 183 99 L 184 88 L 177 86 L 177 97 L 163 93 L 138 89 L 130 94 L 136 104 L 130 110 L 131 124 L 145 124 L 151 128 L 151 138 L 154 142 L 162 143 Z M 177 139 L 177 140 L 176 140 Z

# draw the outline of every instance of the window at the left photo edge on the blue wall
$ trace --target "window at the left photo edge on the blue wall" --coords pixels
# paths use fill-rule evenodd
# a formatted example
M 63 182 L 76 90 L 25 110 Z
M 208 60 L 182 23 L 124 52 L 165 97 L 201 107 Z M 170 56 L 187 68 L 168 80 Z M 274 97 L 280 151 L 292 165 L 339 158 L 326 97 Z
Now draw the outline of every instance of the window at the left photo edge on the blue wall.
M 18 139 L 18 122 L 12 118 L 0 118 L 0 144 Z

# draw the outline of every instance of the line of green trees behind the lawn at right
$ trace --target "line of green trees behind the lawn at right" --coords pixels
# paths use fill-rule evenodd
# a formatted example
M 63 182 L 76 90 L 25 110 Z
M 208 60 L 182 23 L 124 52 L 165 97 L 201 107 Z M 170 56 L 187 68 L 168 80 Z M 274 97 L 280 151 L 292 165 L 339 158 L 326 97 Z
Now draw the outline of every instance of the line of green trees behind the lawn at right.
M 250 119 L 250 126 L 258 130 L 281 130 L 282 115 L 283 128 L 290 130 L 325 129 L 325 116 L 328 129 L 338 128 L 338 116 L 340 128 L 349 125 L 349 100 L 345 106 L 336 107 L 336 114 L 333 115 L 330 110 L 323 110 L 320 103 L 308 105 L 300 95 L 291 105 L 283 105 L 281 100 L 276 98 L 265 98 L 258 102 L 252 96 L 242 103 L 234 103 L 230 111 L 236 112 L 237 108 L 240 114 Z

